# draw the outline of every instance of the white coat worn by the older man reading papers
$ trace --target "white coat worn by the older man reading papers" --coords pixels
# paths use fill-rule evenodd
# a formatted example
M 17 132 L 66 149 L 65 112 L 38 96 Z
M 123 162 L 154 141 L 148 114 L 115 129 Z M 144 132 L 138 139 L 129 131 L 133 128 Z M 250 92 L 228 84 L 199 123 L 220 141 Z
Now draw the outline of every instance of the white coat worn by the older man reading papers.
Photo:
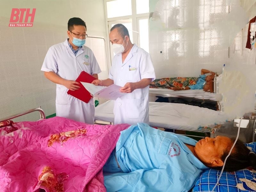
M 122 87 L 128 82 L 138 82 L 145 78 L 154 81 L 156 78 L 150 55 L 136 44 L 133 45 L 124 63 L 122 53 L 115 55 L 108 77 L 114 81 L 114 84 Z M 148 92 L 149 86 L 118 98 L 113 111 L 114 123 L 149 124 Z

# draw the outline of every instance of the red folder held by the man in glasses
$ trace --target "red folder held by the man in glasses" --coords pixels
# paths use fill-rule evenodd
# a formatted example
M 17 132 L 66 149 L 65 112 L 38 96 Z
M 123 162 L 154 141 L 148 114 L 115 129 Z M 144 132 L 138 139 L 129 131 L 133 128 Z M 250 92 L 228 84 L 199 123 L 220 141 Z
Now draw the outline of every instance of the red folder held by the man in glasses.
M 86 83 L 92 83 L 92 81 L 95 79 L 96 78 L 94 76 L 91 76 L 85 71 L 82 71 L 76 79 L 76 82 L 80 83 L 79 84 L 80 88 L 75 91 L 68 90 L 67 93 L 81 101 L 84 101 L 85 103 L 88 103 L 89 100 L 92 99 L 92 95 L 84 88 L 83 84 L 81 84 L 81 81 Z

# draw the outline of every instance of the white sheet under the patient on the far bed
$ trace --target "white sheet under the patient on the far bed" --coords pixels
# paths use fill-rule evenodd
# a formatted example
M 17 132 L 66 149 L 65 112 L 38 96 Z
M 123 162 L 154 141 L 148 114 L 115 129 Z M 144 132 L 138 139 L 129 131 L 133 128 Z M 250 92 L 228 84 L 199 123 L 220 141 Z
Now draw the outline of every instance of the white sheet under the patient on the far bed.
M 160 89 L 160 88 L 149 88 L 150 94 L 156 94 L 156 96 L 165 96 L 165 97 L 192 97 L 196 99 L 205 99 L 205 100 L 219 100 L 218 94 L 205 92 L 202 89 L 190 89 L 190 90 L 180 90 L 173 91 L 171 89 Z

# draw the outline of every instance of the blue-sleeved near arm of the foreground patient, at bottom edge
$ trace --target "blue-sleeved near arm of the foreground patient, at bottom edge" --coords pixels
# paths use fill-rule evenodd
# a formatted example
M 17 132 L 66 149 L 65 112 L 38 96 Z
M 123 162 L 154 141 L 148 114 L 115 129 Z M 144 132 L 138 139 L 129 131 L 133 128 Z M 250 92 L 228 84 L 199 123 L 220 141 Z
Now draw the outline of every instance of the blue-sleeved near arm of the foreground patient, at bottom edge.
M 193 171 L 188 167 L 188 172 L 184 174 L 176 167 L 163 163 L 158 169 L 106 175 L 104 184 L 107 191 L 189 191 L 200 175 L 200 170 L 193 168 Z

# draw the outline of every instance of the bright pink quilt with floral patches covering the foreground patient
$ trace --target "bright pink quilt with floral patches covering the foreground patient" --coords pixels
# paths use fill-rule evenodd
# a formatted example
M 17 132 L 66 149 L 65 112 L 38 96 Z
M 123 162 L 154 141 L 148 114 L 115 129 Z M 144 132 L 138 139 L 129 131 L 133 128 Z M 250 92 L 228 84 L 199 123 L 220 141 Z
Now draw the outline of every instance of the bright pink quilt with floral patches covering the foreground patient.
M 102 167 L 129 126 L 62 117 L 0 124 L 0 191 L 106 191 Z

